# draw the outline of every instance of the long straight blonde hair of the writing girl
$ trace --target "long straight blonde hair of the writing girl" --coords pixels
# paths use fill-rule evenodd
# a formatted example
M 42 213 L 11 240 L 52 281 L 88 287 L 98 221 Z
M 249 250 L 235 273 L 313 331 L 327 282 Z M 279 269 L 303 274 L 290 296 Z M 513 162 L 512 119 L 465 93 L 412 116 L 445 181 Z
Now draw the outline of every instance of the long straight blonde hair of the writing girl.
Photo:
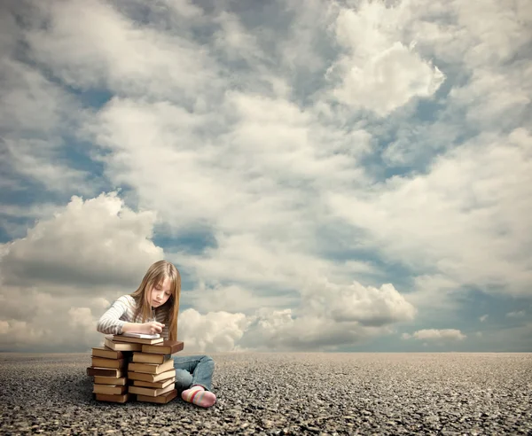
M 168 325 L 168 339 L 177 340 L 177 314 L 179 312 L 179 297 L 181 296 L 181 275 L 176 267 L 168 261 L 156 261 L 146 271 L 137 291 L 131 293 L 131 297 L 137 303 L 133 319 L 142 314 L 142 322 L 151 317 L 152 304 L 149 290 L 157 284 L 161 284 L 165 278 L 170 280 L 171 295 L 163 307 L 168 307 L 168 315 L 165 324 Z

